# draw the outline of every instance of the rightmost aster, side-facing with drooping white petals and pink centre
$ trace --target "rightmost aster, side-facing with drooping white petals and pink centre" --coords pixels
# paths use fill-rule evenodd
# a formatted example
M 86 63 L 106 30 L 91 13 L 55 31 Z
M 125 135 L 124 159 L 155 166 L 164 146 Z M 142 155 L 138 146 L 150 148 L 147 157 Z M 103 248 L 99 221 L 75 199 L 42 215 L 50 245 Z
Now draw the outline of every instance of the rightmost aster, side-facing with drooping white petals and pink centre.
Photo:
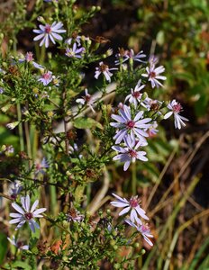
M 172 102 L 168 103 L 168 109 L 170 110 L 170 112 L 167 112 L 164 115 L 164 119 L 168 119 L 168 117 L 174 114 L 175 128 L 180 130 L 182 126 L 185 127 L 186 123 L 184 123 L 184 121 L 188 121 L 188 119 L 179 115 L 179 112 L 183 111 L 181 104 L 177 103 L 176 99 L 174 99 L 172 100 Z

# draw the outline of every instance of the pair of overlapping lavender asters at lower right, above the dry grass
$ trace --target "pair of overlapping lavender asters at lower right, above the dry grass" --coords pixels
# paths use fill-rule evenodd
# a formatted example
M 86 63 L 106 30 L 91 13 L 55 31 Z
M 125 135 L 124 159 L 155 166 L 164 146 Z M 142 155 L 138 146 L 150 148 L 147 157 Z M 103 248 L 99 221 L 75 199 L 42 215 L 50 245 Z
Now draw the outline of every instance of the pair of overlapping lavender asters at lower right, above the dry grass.
M 150 228 L 147 224 L 143 224 L 143 222 L 141 221 L 141 218 L 144 220 L 149 220 L 149 218 L 147 217 L 146 212 L 141 208 L 138 196 L 132 196 L 132 198 L 128 201 L 127 199 L 122 198 L 114 193 L 113 195 L 117 199 L 117 201 L 110 203 L 114 207 L 123 208 L 123 210 L 119 212 L 119 216 L 129 214 L 130 217 L 128 219 L 125 219 L 124 221 L 133 228 L 136 228 L 141 233 L 145 241 L 150 246 L 153 246 L 152 242 L 149 239 L 153 238 L 150 233 Z

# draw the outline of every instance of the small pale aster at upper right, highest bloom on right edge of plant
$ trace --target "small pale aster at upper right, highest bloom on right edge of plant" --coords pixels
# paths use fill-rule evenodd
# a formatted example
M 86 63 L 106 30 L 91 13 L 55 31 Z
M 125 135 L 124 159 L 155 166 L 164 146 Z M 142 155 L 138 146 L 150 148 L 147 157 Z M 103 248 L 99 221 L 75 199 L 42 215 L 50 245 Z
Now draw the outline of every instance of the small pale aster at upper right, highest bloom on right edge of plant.
M 148 77 L 151 87 L 154 88 L 155 86 L 159 88 L 159 86 L 163 86 L 159 80 L 166 80 L 166 76 L 161 76 L 160 74 L 165 71 L 165 67 L 155 67 L 155 65 L 150 65 L 150 67 L 146 67 L 147 73 L 141 74 L 141 76 Z

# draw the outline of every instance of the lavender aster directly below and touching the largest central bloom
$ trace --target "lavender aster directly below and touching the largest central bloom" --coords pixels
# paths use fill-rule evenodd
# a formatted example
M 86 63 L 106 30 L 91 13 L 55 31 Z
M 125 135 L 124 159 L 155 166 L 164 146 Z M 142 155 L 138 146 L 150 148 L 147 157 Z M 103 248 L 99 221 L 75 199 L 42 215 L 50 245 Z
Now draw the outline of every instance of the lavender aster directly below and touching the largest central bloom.
M 144 141 L 138 141 L 135 142 L 135 139 L 131 139 L 130 136 L 126 136 L 124 138 L 124 142 L 127 147 L 122 148 L 119 146 L 112 147 L 115 151 L 118 151 L 120 154 L 116 155 L 113 160 L 120 160 L 121 162 L 124 162 L 123 170 L 126 171 L 131 162 L 135 162 L 136 159 L 140 159 L 142 161 L 148 161 L 148 158 L 145 157 L 146 152 L 145 151 L 137 151 L 139 147 L 143 147 L 147 145 L 147 142 Z

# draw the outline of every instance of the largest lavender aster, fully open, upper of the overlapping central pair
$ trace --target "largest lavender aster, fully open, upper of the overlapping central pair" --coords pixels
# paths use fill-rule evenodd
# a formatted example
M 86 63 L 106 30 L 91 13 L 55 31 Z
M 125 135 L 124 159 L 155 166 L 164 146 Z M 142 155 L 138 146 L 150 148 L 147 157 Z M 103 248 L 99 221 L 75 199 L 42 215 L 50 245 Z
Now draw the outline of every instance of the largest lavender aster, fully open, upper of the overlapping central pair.
M 111 117 L 117 122 L 111 122 L 110 125 L 116 129 L 120 129 L 117 131 L 114 136 L 115 143 L 120 143 L 129 133 L 131 138 L 134 139 L 135 135 L 142 141 L 146 141 L 145 137 L 148 137 L 148 133 L 144 131 L 144 129 L 148 129 L 150 127 L 151 118 L 144 118 L 144 112 L 138 112 L 136 116 L 132 119 L 132 113 L 130 107 L 127 105 L 123 105 L 123 110 L 119 110 L 120 115 L 112 114 Z M 140 120 L 141 119 L 141 120 Z

